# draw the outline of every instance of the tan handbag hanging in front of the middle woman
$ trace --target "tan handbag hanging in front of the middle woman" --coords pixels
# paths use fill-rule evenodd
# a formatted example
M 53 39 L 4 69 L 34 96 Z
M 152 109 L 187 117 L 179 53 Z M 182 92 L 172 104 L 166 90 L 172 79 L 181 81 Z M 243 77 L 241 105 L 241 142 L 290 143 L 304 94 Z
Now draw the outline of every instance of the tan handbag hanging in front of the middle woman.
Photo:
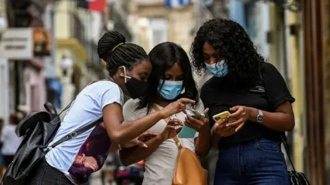
M 159 111 L 159 108 L 153 105 L 153 109 Z M 168 123 L 168 119 L 165 119 Z M 206 185 L 208 184 L 208 171 L 201 167 L 201 162 L 196 154 L 188 148 L 182 147 L 179 138 L 174 138 L 179 152 L 177 154 L 177 165 L 173 175 L 173 185 Z

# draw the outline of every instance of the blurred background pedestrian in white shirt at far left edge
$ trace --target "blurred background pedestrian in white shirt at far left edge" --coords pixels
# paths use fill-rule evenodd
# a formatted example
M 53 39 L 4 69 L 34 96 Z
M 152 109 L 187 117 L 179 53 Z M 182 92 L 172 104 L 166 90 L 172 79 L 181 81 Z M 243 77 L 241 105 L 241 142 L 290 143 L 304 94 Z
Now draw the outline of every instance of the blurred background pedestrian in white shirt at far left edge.
M 1 148 L 1 153 L 5 159 L 5 167 L 7 168 L 14 158 L 19 145 L 21 145 L 22 138 L 19 138 L 15 134 L 15 129 L 19 124 L 19 118 L 16 114 L 10 114 L 9 125 L 3 125 L 1 130 L 1 142 L 3 146 Z

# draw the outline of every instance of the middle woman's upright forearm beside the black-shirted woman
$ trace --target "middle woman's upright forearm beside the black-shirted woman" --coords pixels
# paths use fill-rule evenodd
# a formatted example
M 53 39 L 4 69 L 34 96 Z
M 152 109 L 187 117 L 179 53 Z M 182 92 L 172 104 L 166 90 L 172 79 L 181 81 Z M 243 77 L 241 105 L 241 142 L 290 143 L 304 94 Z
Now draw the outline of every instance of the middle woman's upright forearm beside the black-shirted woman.
M 208 155 L 211 148 L 211 134 L 210 127 L 208 126 L 203 132 L 200 132 L 195 145 L 196 154 L 199 156 Z

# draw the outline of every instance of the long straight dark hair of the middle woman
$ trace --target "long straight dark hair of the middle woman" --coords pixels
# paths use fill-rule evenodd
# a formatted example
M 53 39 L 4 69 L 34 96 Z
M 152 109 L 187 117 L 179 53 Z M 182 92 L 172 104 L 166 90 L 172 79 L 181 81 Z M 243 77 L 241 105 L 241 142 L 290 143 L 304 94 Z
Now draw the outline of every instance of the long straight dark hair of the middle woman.
M 197 105 L 199 95 L 195 80 L 192 77 L 192 69 L 186 51 L 173 42 L 163 42 L 155 46 L 148 56 L 151 64 L 153 64 L 153 71 L 148 78 L 148 93 L 140 98 L 137 109 L 148 107 L 148 110 L 150 110 L 159 94 L 157 87 L 160 79 L 165 78 L 165 72 L 171 69 L 175 63 L 179 64 L 184 73 L 184 84 L 182 86 L 184 93 L 177 98 L 186 97 L 193 99 L 196 101 L 195 105 Z

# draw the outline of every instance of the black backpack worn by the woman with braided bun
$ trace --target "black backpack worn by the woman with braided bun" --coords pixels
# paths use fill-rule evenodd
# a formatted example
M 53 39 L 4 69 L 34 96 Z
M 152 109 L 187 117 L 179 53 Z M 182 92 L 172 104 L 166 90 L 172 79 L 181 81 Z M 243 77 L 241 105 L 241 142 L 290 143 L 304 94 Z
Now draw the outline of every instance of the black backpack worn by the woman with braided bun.
M 91 121 L 85 127 L 74 130 L 49 146 L 61 125 L 60 115 L 72 105 L 72 102 L 60 114 L 57 114 L 56 108 L 47 102 L 44 105 L 47 112 L 32 112 L 17 125 L 15 133 L 17 136 L 25 136 L 25 138 L 5 171 L 1 184 L 26 184 L 34 167 L 39 164 L 50 149 L 102 123 L 102 117 L 96 121 Z

